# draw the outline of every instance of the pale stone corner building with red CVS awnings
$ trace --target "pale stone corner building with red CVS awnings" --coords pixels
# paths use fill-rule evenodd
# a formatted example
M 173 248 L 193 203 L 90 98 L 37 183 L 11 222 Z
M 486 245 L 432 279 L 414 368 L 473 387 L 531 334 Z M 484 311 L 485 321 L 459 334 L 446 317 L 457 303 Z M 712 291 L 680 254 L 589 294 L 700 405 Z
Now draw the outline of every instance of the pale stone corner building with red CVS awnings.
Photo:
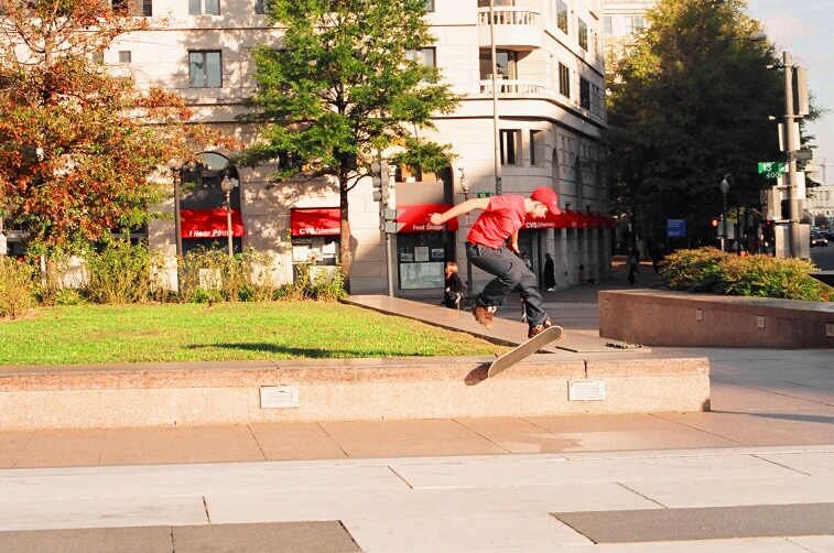
M 436 175 L 398 171 L 400 209 L 392 237 L 394 290 L 398 294 L 434 293 L 443 286 L 443 262 L 457 260 L 461 276 L 473 286 L 489 275 L 469 279 L 464 243 L 477 214 L 444 228 L 427 215 L 454 203 L 496 192 L 494 170 L 492 80 L 489 2 L 434 0 L 427 14 L 436 41 L 420 55 L 436 64 L 462 97 L 454 113 L 437 117 L 432 137 L 451 143 L 453 166 Z M 599 280 L 609 268 L 610 238 L 605 195 L 605 64 L 600 0 L 497 0 L 492 23 L 499 80 L 498 113 L 502 192 L 528 195 L 538 186 L 560 194 L 566 216 L 530 221 L 520 246 L 542 278 L 545 253 L 555 260 L 560 288 Z M 183 96 L 195 119 L 235 133 L 245 142 L 256 129 L 238 121 L 254 90 L 250 50 L 281 41 L 269 26 L 260 0 L 144 0 L 147 31 L 122 36 L 105 53 L 105 63 L 129 71 L 139 86 L 159 86 Z M 154 21 L 155 20 L 155 21 Z M 225 247 L 227 224 L 221 176 L 228 152 L 207 152 L 199 172 L 172 170 L 183 184 L 183 249 Z M 270 256 L 273 274 L 290 281 L 293 265 L 335 267 L 339 260 L 338 191 L 329 182 L 274 182 L 274 166 L 235 167 L 230 195 L 234 247 Z M 419 178 L 422 176 L 422 178 Z M 422 181 L 422 182 L 421 182 Z M 351 293 L 383 293 L 387 262 L 379 229 L 379 205 L 370 180 L 349 195 Z M 173 213 L 174 203 L 160 207 Z M 151 247 L 172 260 L 174 223 L 154 221 Z M 175 271 L 172 265 L 172 278 Z

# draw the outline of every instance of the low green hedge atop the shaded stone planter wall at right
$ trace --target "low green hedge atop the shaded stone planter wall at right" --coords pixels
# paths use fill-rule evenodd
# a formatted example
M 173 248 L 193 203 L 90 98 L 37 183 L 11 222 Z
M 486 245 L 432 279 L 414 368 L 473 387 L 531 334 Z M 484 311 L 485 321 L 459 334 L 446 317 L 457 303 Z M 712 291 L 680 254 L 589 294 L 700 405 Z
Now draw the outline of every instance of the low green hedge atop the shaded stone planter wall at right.
M 701 248 L 667 256 L 660 275 L 661 285 L 670 290 L 830 302 L 834 289 L 808 274 L 815 270 L 813 263 L 799 259 L 739 257 Z

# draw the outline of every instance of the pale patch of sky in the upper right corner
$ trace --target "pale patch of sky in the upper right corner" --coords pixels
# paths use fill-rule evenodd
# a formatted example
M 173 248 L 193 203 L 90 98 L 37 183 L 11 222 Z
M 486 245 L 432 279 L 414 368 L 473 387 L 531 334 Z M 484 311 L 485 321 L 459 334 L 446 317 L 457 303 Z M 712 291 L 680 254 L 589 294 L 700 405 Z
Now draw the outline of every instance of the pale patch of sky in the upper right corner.
M 825 184 L 834 185 L 834 2 L 747 0 L 747 4 L 748 15 L 765 24 L 768 40 L 776 45 L 780 57 L 781 52 L 788 51 L 794 65 L 808 69 L 814 104 L 828 110 L 806 129 L 816 137 L 814 161 L 827 165 Z

